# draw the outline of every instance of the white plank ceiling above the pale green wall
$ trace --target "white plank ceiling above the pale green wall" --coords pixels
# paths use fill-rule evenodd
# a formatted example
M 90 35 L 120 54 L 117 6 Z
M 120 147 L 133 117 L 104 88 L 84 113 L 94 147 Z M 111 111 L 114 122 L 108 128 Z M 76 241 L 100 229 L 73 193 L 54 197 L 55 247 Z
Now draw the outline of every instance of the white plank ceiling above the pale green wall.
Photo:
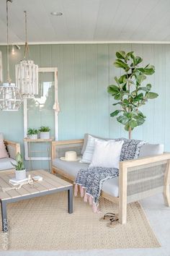
M 170 41 L 170 0 L 13 0 L 11 43 L 24 43 L 24 10 L 29 43 Z M 6 0 L 0 0 L 0 43 L 6 43 Z

